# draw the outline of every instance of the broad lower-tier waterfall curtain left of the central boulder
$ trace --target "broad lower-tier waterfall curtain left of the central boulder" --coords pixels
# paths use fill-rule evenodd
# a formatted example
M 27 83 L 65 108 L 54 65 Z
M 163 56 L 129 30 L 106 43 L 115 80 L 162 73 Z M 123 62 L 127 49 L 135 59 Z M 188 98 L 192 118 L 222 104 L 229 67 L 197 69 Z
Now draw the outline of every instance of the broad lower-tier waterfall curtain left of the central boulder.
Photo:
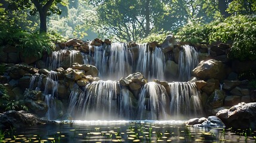
M 82 119 L 116 119 L 120 87 L 116 81 L 92 82 L 78 99 L 78 113 Z

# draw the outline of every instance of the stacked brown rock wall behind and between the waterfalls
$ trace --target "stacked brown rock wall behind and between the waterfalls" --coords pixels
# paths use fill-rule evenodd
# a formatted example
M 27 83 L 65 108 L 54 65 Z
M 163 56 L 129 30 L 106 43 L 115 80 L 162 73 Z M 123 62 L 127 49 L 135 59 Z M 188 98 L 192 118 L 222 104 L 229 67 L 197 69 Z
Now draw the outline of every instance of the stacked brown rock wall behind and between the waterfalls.
M 59 43 L 58 50 L 70 49 L 76 50 L 77 54 L 88 54 L 94 52 L 94 46 L 103 46 L 103 48 L 110 45 L 111 41 L 105 39 L 94 39 L 90 42 L 84 42 L 79 39 L 70 39 L 67 42 Z M 155 48 L 161 48 L 165 55 L 165 76 L 166 80 L 178 79 L 178 59 L 180 51 L 183 50 L 182 46 L 190 43 L 175 42 L 173 35 L 166 37 L 165 41 L 161 44 L 156 42 L 149 43 L 149 51 L 154 51 Z M 132 52 L 134 58 L 138 57 L 138 44 L 135 42 L 127 43 L 128 50 Z M 201 102 L 206 114 L 214 115 L 223 108 L 230 108 L 239 102 L 255 102 L 256 92 L 254 88 L 249 86 L 250 79 L 239 80 L 238 75 L 245 71 L 255 71 L 256 61 L 236 61 L 230 60 L 228 54 L 230 45 L 218 43 L 215 45 L 206 45 L 205 43 L 193 45 L 200 51 L 200 63 L 192 71 L 192 79 L 190 82 L 195 82 L 198 90 L 201 92 Z M 82 53 L 82 54 L 81 54 Z M 67 105 L 69 95 L 72 92 L 73 85 L 76 83 L 79 87 L 85 87 L 88 84 L 100 80 L 98 76 L 97 67 L 88 64 L 82 64 L 81 56 L 77 56 L 78 63 L 71 63 L 71 52 L 65 52 L 66 58 L 63 58 L 64 63 L 60 64 L 62 67 L 53 69 L 58 77 L 58 98 L 62 104 Z M 35 90 L 40 88 L 44 91 L 47 85 L 47 76 L 50 71 L 47 69 L 48 63 L 45 59 L 29 58 L 24 60 L 20 58 L 16 47 L 5 45 L 4 56 L 0 58 L 2 63 L 5 64 L 5 74 L 0 76 L 0 82 L 8 89 L 8 94 L 12 99 L 23 99 L 26 105 L 33 113 L 38 113 L 43 116 L 47 107 L 44 103 L 44 94 L 33 95 L 36 98 L 30 98 L 27 88 Z M 51 57 L 49 55 L 48 57 Z M 18 64 L 26 63 L 26 64 Z M 35 76 L 35 82 L 30 87 L 32 77 Z M 40 80 L 40 78 L 42 80 Z M 155 80 L 165 88 L 168 82 Z M 122 86 L 126 86 L 138 100 L 138 93 L 141 87 L 147 83 L 145 78 L 140 73 L 131 74 L 131 76 L 124 77 L 119 80 Z M 39 85 L 39 87 L 38 87 Z M 50 86 L 50 85 L 48 85 Z M 25 92 L 26 91 L 26 92 Z M 168 91 L 168 88 L 166 88 Z M 66 110 L 66 109 L 63 109 Z

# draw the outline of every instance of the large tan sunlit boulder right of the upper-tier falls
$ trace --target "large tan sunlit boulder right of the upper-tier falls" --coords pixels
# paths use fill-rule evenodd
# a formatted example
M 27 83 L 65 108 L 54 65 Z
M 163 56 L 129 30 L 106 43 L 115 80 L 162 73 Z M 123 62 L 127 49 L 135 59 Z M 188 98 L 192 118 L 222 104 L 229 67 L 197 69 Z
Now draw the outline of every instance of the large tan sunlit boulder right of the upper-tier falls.
M 203 80 L 212 78 L 223 80 L 226 77 L 224 64 L 216 60 L 201 61 L 192 71 L 192 76 Z

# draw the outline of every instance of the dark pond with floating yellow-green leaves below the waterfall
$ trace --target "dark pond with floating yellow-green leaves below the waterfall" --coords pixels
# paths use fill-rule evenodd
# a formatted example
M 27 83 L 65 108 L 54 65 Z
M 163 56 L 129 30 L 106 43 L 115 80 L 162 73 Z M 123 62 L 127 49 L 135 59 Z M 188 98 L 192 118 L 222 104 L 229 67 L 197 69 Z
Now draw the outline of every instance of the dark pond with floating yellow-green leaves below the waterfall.
M 256 142 L 251 130 L 206 129 L 183 121 L 57 121 L 9 129 L 0 142 Z M 1 140 L 2 136 L 2 140 Z

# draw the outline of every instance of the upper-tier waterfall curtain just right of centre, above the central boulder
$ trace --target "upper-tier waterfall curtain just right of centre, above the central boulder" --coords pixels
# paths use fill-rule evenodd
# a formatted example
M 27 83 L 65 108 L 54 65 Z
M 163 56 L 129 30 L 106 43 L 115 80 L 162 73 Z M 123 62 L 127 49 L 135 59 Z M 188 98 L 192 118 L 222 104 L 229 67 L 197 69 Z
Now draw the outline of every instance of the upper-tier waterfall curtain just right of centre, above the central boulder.
M 148 79 L 164 80 L 165 55 L 161 48 L 150 52 L 147 43 L 138 46 L 137 72 L 141 72 Z

